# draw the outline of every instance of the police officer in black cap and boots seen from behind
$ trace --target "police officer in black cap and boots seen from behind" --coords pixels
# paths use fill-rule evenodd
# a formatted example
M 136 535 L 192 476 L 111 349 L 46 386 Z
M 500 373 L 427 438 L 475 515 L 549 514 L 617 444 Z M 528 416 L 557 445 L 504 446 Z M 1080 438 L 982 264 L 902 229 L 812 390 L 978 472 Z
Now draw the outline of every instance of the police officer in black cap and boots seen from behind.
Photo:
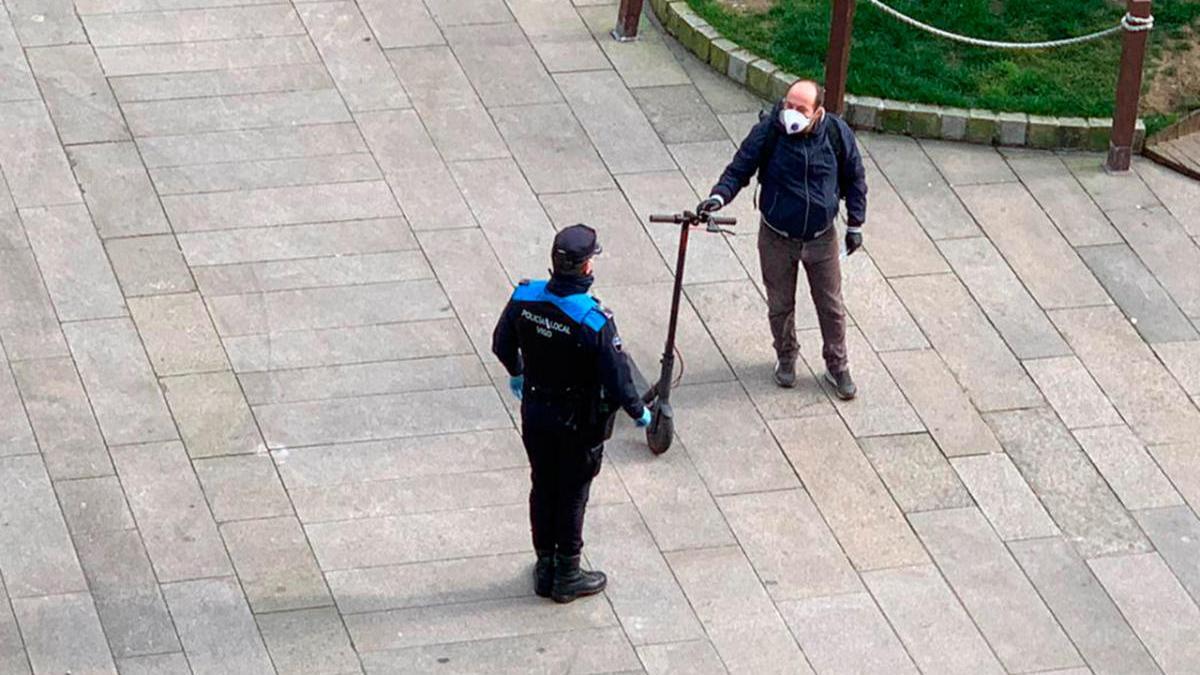
M 529 520 L 534 590 L 571 602 L 604 590 L 580 568 L 583 510 L 604 442 L 624 408 L 638 426 L 650 411 L 634 388 L 612 312 L 588 294 L 596 232 L 572 225 L 554 237 L 550 281 L 522 281 L 492 334 L 492 352 L 521 400 L 521 435 L 533 474 Z

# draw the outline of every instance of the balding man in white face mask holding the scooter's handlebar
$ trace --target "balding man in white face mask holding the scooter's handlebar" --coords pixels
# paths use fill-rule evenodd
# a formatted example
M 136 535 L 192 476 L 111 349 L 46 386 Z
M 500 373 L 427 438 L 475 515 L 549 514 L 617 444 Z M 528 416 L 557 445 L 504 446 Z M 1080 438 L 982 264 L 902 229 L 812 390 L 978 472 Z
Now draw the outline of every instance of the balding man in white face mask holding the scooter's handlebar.
M 823 108 L 824 91 L 810 79 L 792 84 L 770 115 L 755 125 L 700 210 L 715 211 L 758 175 L 758 258 L 774 336 L 775 382 L 796 386 L 796 282 L 804 265 L 824 341 L 824 377 L 844 400 L 857 394 L 846 358 L 841 298 L 839 202 L 846 202 L 846 252 L 863 245 L 866 178 L 850 126 Z

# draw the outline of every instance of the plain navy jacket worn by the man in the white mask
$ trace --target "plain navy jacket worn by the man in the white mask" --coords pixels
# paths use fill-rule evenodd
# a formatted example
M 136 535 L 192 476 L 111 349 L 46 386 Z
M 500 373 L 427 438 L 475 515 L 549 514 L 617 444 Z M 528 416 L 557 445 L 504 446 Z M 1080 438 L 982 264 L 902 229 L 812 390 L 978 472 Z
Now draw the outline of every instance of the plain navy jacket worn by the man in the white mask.
M 778 145 L 758 177 L 762 186 L 758 208 L 763 219 L 788 237 L 812 239 L 833 222 L 838 199 L 844 198 L 846 222 L 862 227 L 866 221 L 866 175 L 850 125 L 833 113 L 824 113 L 811 133 L 788 136 L 779 121 L 781 107 L 782 102 L 776 103 L 772 114 L 750 130 L 712 193 L 720 195 L 725 203 L 732 202 L 758 171 L 764 145 L 774 136 Z M 835 156 L 829 137 L 829 125 L 834 124 L 841 131 L 844 157 Z M 770 133 L 772 125 L 778 133 Z

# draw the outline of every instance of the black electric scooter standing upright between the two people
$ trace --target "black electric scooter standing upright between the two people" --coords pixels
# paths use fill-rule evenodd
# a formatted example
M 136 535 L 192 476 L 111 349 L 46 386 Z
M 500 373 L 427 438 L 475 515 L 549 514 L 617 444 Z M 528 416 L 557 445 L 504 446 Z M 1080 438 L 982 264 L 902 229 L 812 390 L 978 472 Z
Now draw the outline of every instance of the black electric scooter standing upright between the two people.
M 683 211 L 672 215 L 652 215 L 650 222 L 670 222 L 679 226 L 679 255 L 676 258 L 676 281 L 671 295 L 671 321 L 667 323 L 667 344 L 662 350 L 662 371 L 659 381 L 655 382 L 646 394 L 642 402 L 649 406 L 653 418 L 650 425 L 646 428 L 646 444 L 650 452 L 661 455 L 671 447 L 674 438 L 674 411 L 671 408 L 671 387 L 674 376 L 674 338 L 676 325 L 679 322 L 679 298 L 683 295 L 683 267 L 688 256 L 688 234 L 697 225 L 704 225 L 706 232 L 716 234 L 737 234 L 721 226 L 734 226 L 738 220 L 734 217 L 716 216 L 707 213 L 694 214 Z

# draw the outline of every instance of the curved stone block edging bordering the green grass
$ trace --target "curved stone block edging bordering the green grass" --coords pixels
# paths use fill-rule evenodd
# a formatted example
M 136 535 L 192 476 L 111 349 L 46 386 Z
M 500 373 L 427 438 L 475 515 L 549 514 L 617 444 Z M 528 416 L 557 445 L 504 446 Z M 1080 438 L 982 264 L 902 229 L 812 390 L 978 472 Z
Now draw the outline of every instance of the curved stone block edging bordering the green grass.
M 781 98 L 799 76 L 727 40 L 683 0 L 650 0 L 654 16 L 698 59 L 750 91 Z M 854 129 L 968 143 L 1042 149 L 1106 151 L 1112 120 L 996 113 L 846 95 L 846 121 Z M 1146 125 L 1138 120 L 1134 151 L 1141 151 Z

